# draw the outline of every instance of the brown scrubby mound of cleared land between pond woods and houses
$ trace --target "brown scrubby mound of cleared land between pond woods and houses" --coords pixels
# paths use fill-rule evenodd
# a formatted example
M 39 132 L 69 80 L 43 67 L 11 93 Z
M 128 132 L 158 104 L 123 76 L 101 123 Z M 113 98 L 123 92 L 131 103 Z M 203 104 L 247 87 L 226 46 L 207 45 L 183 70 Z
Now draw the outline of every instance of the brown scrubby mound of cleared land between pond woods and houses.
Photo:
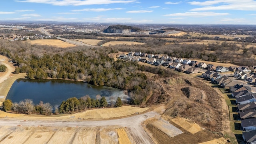
M 222 102 L 218 93 L 204 82 L 189 77 L 155 80 L 162 88 L 166 111 L 171 117 L 184 117 L 202 128 L 222 132 Z

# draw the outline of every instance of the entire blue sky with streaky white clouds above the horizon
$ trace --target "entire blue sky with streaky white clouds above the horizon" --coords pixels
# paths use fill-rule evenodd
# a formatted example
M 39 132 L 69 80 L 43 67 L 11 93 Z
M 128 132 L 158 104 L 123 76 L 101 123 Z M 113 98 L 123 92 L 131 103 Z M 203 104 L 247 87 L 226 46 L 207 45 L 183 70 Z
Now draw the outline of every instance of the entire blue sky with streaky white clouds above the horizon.
M 256 0 L 1 0 L 0 20 L 256 24 Z

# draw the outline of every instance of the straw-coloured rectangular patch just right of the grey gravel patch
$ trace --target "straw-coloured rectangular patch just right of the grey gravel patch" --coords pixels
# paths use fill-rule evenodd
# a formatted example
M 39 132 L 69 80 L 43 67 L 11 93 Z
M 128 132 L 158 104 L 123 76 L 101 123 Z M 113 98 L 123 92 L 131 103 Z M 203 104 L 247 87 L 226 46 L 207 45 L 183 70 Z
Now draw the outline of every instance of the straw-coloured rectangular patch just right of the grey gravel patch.
M 190 122 L 185 118 L 176 117 L 171 120 L 172 122 L 174 122 L 175 124 L 178 124 L 180 127 L 184 128 L 191 134 L 195 134 L 202 130 L 202 128 L 198 124 L 195 124 L 194 122 Z

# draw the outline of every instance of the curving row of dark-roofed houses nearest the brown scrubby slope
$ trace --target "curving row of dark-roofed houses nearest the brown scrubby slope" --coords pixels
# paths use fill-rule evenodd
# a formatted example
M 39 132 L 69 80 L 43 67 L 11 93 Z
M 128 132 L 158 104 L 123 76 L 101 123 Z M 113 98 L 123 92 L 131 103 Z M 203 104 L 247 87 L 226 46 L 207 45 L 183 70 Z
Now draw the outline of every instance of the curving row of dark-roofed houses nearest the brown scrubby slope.
M 229 90 L 238 104 L 238 117 L 241 120 L 243 131 L 242 137 L 246 144 L 256 144 L 256 93 L 252 87 L 244 86 L 242 82 L 234 81 L 230 76 L 221 76 L 212 70 L 203 73 L 202 77 Z

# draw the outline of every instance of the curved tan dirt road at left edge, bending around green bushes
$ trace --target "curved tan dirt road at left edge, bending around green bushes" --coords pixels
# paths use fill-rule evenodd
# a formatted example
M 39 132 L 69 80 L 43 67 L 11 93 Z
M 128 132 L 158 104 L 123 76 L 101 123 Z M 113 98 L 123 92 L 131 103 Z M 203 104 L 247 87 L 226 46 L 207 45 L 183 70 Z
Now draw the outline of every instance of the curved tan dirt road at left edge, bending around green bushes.
M 12 72 L 14 72 L 14 66 L 12 66 L 8 60 L 9 59 L 6 56 L 0 55 L 0 61 L 7 67 L 6 72 L 0 76 L 0 83 L 4 82 L 4 80 L 6 80 Z

